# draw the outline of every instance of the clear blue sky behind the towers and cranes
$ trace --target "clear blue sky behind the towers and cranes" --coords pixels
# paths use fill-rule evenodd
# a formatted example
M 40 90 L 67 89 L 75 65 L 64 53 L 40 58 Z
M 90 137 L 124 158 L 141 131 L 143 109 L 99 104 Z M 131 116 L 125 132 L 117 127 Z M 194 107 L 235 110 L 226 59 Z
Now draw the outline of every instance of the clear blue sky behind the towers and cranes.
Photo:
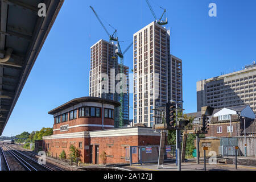
M 256 60 L 255 0 L 150 0 L 167 9 L 171 28 L 171 53 L 183 60 L 183 100 L 186 113 L 196 111 L 196 81 L 237 71 Z M 208 5 L 217 5 L 217 17 Z M 120 40 L 154 19 L 144 0 L 65 0 L 38 59 L 7 123 L 4 136 L 52 127 L 49 110 L 89 95 L 90 46 L 108 40 L 89 6 L 92 5 L 109 32 L 118 29 Z M 107 23 L 108 22 L 108 23 Z M 130 43 L 122 43 L 123 49 Z M 133 68 L 130 49 L 125 64 Z M 132 104 L 132 97 L 130 97 Z M 130 110 L 130 118 L 133 111 Z

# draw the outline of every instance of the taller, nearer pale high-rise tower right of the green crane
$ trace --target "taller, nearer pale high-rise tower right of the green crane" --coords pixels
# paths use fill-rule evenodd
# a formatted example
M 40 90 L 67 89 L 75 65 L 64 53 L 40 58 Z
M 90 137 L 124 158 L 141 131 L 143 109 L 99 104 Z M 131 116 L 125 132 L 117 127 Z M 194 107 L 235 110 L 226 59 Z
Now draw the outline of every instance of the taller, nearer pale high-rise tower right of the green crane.
M 133 124 L 152 127 L 155 108 L 170 100 L 182 101 L 182 61 L 170 54 L 170 30 L 156 22 L 136 32 L 133 38 Z

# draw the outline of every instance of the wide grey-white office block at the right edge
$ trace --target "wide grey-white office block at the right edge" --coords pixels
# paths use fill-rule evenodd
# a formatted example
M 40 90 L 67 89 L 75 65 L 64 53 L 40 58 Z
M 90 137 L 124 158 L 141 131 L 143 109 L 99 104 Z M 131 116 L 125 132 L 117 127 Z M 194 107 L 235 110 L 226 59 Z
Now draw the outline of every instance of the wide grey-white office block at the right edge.
M 203 106 L 216 109 L 250 105 L 256 113 L 256 64 L 241 71 L 196 82 L 197 111 Z

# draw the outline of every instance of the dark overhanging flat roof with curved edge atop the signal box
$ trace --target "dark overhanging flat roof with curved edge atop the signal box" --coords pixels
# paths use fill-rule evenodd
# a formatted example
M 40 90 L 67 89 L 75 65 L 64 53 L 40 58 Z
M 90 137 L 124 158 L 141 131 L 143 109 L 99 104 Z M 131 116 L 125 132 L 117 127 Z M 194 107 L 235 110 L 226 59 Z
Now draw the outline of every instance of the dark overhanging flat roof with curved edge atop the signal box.
M 63 105 L 56 107 L 55 109 L 52 109 L 51 111 L 48 112 L 48 114 L 58 113 L 61 110 L 67 109 L 68 107 L 71 107 L 71 106 L 75 106 L 77 104 L 80 104 L 81 102 L 98 102 L 102 104 L 114 105 L 115 107 L 119 107 L 121 105 L 117 101 L 107 100 L 100 97 L 80 97 L 80 98 L 74 98 L 73 100 L 68 101 Z

